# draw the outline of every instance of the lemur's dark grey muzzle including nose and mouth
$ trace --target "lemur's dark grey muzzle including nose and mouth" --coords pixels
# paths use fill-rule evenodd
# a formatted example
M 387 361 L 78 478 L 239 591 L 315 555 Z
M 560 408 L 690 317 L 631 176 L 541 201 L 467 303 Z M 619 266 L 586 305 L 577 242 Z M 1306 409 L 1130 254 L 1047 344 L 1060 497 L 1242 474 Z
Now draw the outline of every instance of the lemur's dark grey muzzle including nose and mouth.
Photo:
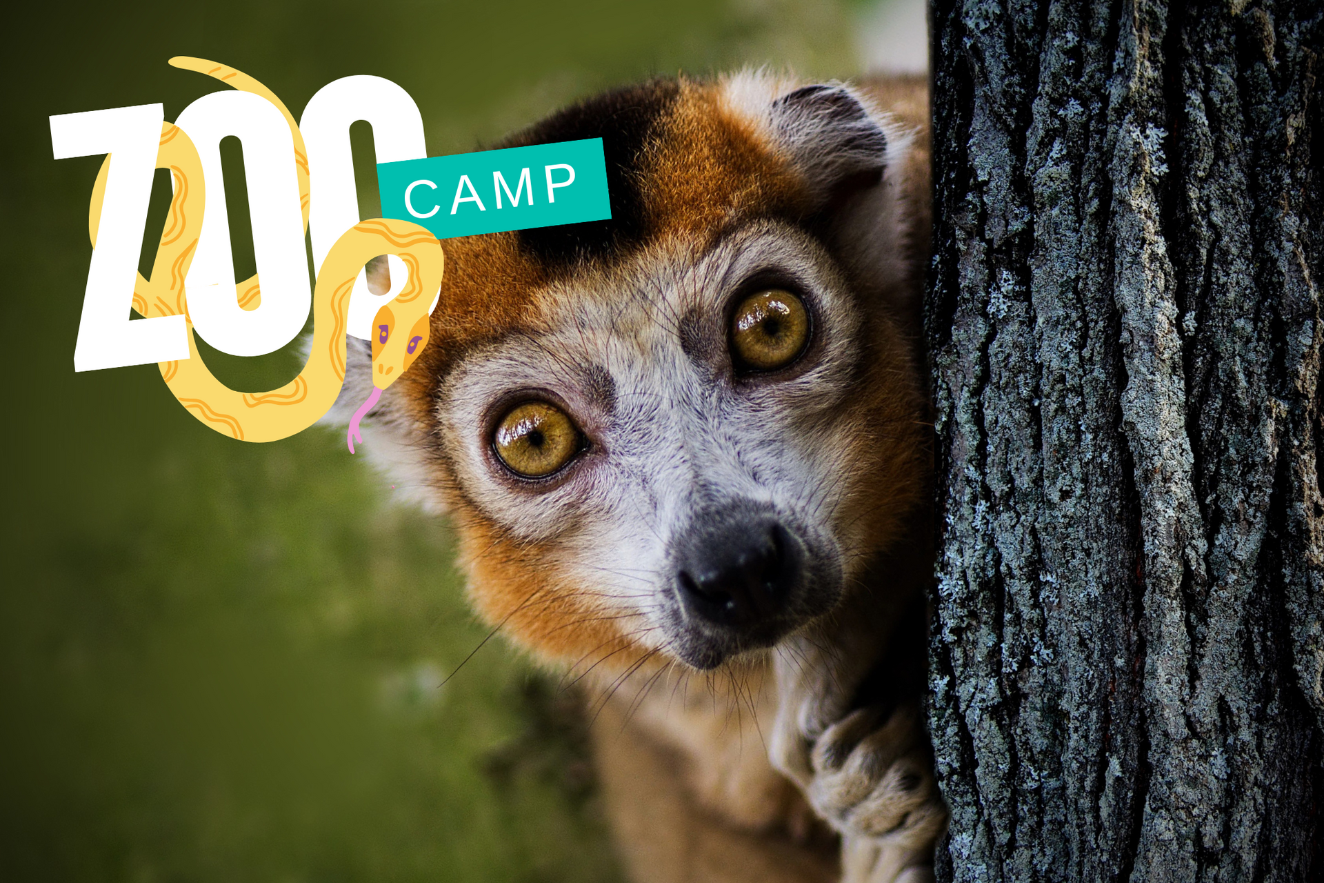
M 737 499 L 696 512 L 671 547 L 679 655 L 712 667 L 776 643 L 817 613 L 808 557 L 794 526 L 765 503 Z

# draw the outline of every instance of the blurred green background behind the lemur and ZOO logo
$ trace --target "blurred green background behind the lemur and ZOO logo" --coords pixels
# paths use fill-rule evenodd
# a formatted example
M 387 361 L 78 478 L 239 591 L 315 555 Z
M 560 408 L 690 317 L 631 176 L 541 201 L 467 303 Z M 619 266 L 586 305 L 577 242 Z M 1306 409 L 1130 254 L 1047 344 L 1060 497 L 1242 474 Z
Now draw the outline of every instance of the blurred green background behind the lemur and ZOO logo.
M 745 64 L 859 70 L 870 9 L 831 0 L 29 3 L 5 13 L 0 242 L 8 328 L 0 579 L 0 879 L 610 880 L 573 703 L 467 613 L 445 520 L 312 429 L 249 445 L 188 416 L 154 365 L 74 373 L 87 195 L 46 116 L 221 86 L 298 118 L 371 73 L 422 110 L 429 155 L 573 98 Z M 355 128 L 372 183 L 371 130 Z M 253 271 L 224 152 L 237 278 Z M 159 173 L 150 269 L 168 184 Z M 361 191 L 365 216 L 376 196 Z M 299 368 L 208 352 L 230 385 Z

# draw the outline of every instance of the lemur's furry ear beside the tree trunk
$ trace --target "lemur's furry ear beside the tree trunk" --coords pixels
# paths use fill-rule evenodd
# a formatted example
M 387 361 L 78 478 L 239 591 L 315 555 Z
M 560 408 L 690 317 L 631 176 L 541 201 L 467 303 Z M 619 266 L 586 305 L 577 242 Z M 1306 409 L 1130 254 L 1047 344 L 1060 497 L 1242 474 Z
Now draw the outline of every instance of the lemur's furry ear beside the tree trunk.
M 765 119 L 809 187 L 810 228 L 862 294 L 915 314 L 928 220 L 927 184 L 908 180 L 911 132 L 842 83 L 773 91 Z

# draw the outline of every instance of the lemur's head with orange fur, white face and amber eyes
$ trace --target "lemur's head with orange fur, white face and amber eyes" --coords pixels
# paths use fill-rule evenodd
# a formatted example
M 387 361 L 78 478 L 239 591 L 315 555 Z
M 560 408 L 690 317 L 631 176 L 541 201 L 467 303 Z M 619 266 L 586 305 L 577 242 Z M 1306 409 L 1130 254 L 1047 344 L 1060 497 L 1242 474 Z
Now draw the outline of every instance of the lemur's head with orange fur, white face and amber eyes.
M 448 241 L 376 449 L 535 650 L 712 669 L 830 614 L 922 492 L 904 138 L 843 87 L 741 75 L 504 146 L 594 136 L 613 220 Z

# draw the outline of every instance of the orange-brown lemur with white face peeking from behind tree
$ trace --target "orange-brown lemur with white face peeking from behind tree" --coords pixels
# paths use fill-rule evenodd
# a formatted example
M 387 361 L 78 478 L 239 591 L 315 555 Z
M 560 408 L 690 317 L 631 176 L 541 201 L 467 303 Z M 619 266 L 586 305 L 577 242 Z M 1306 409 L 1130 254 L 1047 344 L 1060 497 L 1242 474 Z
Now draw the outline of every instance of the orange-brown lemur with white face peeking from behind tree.
M 448 240 L 369 414 L 482 618 L 591 684 L 638 883 L 931 876 L 927 115 L 919 78 L 745 71 L 512 135 L 601 138 L 612 218 Z M 363 348 L 331 418 L 368 387 Z

